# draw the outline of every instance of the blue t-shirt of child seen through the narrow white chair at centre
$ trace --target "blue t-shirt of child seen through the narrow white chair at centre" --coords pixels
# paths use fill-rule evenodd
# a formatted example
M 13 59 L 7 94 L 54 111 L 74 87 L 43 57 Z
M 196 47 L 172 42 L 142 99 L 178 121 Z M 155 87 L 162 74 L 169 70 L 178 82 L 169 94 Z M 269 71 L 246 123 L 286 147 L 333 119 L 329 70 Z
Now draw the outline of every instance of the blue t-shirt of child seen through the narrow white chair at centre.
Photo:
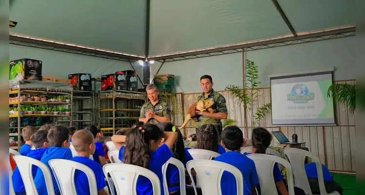
M 174 156 L 172 155 L 172 157 Z M 186 168 L 186 163 L 189 162 L 190 160 L 192 160 L 192 156 L 188 152 L 188 149 L 185 148 L 185 158 L 184 161 L 182 162 L 185 168 Z M 175 165 L 169 164 L 169 166 L 167 166 L 166 179 L 167 179 L 167 185 L 169 186 L 169 193 L 180 190 L 180 175 L 179 175 L 179 170 Z

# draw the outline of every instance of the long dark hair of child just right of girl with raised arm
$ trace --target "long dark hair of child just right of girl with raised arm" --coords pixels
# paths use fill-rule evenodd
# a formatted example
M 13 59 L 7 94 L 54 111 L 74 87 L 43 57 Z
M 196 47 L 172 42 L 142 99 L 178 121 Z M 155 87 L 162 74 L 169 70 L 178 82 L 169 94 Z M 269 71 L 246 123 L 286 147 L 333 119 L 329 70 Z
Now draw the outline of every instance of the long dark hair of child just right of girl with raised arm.
M 157 124 L 157 126 L 162 130 L 166 132 L 173 132 L 173 123 L 171 122 L 160 122 Z M 182 134 L 180 130 L 175 127 L 175 132 L 177 133 L 177 139 L 175 140 L 175 143 L 173 143 L 173 147 L 171 148 L 173 152 L 173 156 L 180 160 L 181 162 L 184 162 L 185 159 L 185 146 L 184 146 L 184 139 L 182 138 Z

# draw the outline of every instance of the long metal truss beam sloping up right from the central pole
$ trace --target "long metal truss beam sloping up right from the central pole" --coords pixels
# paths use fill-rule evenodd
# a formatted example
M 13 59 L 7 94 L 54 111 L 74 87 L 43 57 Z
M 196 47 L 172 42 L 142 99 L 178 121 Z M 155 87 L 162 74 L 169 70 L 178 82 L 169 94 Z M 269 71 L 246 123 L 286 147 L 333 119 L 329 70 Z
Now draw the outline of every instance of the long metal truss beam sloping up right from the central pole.
M 234 44 L 234 45 L 221 46 L 221 47 L 216 47 L 213 49 L 202 49 L 199 51 L 182 52 L 182 53 L 171 54 L 171 55 L 156 56 L 156 57 L 151 57 L 148 60 L 160 61 L 160 60 L 164 60 L 164 59 L 181 58 L 181 57 L 187 57 L 187 56 L 208 54 L 208 53 L 213 53 L 213 52 L 222 52 L 222 51 L 228 51 L 228 50 L 250 48 L 250 47 L 256 47 L 256 46 L 260 46 L 260 45 L 269 45 L 269 44 L 275 44 L 275 43 L 281 43 L 281 42 L 287 42 L 287 41 L 295 41 L 295 40 L 301 40 L 301 39 L 311 39 L 311 38 L 323 37 L 323 36 L 328 36 L 328 35 L 336 35 L 336 34 L 342 34 L 342 33 L 349 33 L 349 32 L 355 32 L 355 31 L 356 31 L 356 26 L 346 26 L 346 27 L 340 27 L 340 28 L 336 28 L 336 29 L 322 30 L 322 31 L 318 31 L 318 32 L 300 33 L 296 37 L 294 37 L 292 35 L 284 36 L 284 37 L 281 36 L 281 37 L 276 37 L 276 38 L 248 41 L 248 42 L 243 42 L 243 43 Z

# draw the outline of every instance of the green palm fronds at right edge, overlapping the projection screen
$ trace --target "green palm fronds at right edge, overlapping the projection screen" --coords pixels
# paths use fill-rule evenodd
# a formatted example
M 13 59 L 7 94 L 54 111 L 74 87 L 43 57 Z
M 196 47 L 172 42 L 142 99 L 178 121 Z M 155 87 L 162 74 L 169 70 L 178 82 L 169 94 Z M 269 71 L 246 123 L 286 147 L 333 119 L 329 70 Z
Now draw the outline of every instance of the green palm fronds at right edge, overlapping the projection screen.
M 334 101 L 347 106 L 353 115 L 356 109 L 356 84 L 347 83 L 332 84 L 327 91 L 327 96 L 332 97 Z

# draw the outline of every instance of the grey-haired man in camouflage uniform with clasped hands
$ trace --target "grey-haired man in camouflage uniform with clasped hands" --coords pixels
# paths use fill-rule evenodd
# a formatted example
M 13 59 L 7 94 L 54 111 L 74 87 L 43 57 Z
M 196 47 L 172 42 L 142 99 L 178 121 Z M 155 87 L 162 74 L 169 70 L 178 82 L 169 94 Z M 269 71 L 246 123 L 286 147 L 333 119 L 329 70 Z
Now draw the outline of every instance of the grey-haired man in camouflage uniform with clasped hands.
M 139 114 L 139 121 L 155 125 L 159 122 L 170 122 L 170 109 L 166 102 L 158 100 L 156 85 L 147 85 L 146 92 L 150 101 L 143 104 Z

